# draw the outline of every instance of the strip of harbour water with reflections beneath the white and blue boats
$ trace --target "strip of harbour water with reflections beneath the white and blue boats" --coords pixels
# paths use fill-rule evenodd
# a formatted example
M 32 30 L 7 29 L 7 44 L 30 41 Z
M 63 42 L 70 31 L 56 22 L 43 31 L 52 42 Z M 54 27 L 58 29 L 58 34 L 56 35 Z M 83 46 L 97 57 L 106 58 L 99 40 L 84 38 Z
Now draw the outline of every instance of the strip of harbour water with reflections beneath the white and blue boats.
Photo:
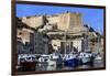
M 92 67 L 103 67 L 102 61 L 95 61 L 92 65 L 79 65 L 77 67 L 67 67 L 67 66 L 48 66 L 45 64 L 36 64 L 36 70 L 62 70 L 62 69 L 78 69 L 78 68 L 92 68 Z

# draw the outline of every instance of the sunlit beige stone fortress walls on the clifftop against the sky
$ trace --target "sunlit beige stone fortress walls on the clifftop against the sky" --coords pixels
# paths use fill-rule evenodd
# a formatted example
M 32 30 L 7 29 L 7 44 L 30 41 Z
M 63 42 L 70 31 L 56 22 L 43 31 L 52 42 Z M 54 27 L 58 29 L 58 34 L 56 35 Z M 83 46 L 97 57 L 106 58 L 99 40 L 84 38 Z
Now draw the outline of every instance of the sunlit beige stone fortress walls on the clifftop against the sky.
M 54 15 L 34 15 L 34 17 L 24 17 L 21 18 L 22 22 L 32 28 L 38 28 L 45 25 L 45 20 L 48 24 L 56 24 L 58 30 L 66 31 L 68 29 L 76 28 L 79 30 L 82 28 L 81 14 L 76 12 L 66 12 Z

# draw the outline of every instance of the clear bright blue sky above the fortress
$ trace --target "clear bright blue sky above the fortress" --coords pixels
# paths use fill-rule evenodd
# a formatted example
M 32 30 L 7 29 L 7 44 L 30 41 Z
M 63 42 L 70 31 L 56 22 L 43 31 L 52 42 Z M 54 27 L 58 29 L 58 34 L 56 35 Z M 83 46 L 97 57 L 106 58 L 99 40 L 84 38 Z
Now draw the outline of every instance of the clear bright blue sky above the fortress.
M 16 4 L 16 17 L 58 14 L 66 11 L 78 12 L 82 14 L 84 24 L 88 24 L 96 31 L 103 33 L 103 9 L 76 8 L 76 7 L 56 7 L 56 6 L 33 6 Z

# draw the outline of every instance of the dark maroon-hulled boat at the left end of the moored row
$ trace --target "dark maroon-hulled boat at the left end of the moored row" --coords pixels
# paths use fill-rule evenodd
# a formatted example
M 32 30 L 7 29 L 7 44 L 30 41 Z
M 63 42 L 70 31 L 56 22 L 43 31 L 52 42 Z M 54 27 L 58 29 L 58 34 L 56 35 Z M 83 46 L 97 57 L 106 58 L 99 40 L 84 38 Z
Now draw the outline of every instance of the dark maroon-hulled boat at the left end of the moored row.
M 36 56 L 33 54 L 21 54 L 18 55 L 18 70 L 35 70 Z

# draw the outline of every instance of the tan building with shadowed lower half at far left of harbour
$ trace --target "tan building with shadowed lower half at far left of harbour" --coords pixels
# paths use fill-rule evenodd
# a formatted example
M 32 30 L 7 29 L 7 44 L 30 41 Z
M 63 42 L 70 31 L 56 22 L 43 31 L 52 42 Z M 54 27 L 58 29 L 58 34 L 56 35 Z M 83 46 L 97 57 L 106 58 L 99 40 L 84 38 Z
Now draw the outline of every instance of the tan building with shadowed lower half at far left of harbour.
M 18 29 L 18 51 L 20 54 L 33 53 L 33 33 L 29 32 L 26 29 Z

